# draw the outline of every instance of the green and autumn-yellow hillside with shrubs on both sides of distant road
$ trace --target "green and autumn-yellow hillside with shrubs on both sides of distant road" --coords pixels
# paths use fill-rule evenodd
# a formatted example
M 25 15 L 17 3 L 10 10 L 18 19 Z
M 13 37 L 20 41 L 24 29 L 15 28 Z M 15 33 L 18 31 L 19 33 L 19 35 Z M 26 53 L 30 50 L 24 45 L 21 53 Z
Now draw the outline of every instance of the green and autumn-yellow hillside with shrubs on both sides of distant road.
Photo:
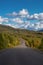
M 0 49 L 14 48 L 20 45 L 21 39 L 25 40 L 27 47 L 43 50 L 43 32 L 0 25 Z

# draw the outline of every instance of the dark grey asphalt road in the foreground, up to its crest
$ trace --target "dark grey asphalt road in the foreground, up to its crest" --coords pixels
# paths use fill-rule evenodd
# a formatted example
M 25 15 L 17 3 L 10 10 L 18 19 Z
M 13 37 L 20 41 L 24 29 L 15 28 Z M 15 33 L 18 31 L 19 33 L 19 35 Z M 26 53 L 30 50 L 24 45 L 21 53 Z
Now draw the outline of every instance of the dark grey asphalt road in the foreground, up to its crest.
M 0 65 L 43 65 L 43 54 L 31 48 L 10 48 L 0 52 Z

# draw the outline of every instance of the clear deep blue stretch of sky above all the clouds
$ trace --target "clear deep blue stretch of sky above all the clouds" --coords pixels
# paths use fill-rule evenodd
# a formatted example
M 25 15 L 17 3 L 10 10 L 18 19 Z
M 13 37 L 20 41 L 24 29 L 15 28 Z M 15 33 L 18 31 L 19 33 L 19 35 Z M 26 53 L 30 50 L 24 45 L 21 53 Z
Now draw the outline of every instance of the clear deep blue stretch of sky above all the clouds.
M 0 0 L 0 15 L 28 9 L 30 14 L 43 12 L 43 0 Z

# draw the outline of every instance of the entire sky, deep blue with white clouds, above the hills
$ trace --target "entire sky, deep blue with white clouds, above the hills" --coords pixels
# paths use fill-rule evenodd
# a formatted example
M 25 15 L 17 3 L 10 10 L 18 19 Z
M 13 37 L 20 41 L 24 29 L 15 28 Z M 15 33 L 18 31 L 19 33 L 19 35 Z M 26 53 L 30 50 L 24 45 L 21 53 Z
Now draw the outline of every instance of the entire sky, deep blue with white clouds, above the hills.
M 0 0 L 0 24 L 43 28 L 43 0 Z

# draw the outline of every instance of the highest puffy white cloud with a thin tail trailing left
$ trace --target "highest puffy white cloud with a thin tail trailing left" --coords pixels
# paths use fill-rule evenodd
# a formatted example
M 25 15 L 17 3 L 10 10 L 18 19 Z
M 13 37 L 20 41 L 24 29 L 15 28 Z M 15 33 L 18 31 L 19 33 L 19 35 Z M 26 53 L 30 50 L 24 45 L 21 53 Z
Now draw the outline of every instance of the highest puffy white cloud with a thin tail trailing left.
M 18 13 L 12 12 L 12 13 L 8 13 L 7 15 L 8 16 L 27 17 L 27 16 L 29 16 L 29 13 L 28 13 L 28 10 L 27 9 L 22 9 Z

